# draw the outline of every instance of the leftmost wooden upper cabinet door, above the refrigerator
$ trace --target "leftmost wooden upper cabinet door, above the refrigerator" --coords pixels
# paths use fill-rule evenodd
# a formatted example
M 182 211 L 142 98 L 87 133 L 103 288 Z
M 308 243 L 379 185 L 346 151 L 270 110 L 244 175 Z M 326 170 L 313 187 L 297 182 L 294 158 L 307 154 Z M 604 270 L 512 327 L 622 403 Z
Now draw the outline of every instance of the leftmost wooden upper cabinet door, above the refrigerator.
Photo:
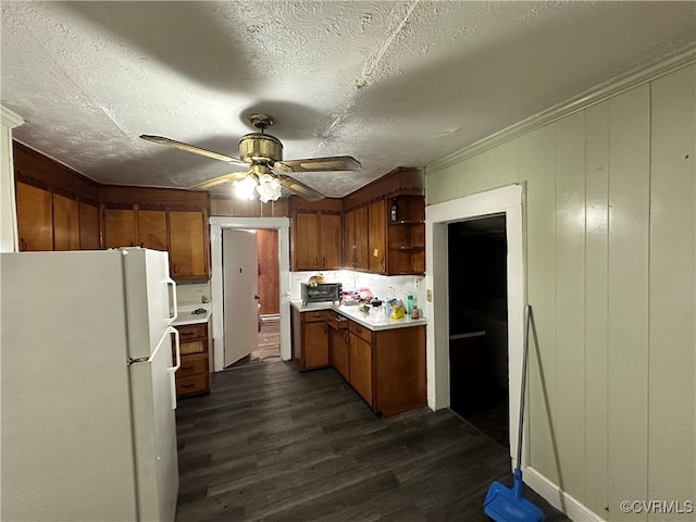
M 53 250 L 51 192 L 17 183 L 16 198 L 20 250 Z

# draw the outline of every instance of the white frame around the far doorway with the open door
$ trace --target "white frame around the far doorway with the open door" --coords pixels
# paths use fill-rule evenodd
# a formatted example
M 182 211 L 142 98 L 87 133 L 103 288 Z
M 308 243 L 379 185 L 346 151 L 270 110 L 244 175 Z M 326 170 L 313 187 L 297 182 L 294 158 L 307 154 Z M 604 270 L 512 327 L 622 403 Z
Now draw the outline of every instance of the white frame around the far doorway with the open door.
M 274 228 L 278 231 L 278 293 L 281 313 L 281 359 L 289 361 L 290 350 L 290 220 L 289 217 L 221 217 L 209 219 L 213 299 L 213 371 L 224 370 L 225 310 L 223 306 L 222 229 Z M 219 319 L 215 319 L 219 318 Z

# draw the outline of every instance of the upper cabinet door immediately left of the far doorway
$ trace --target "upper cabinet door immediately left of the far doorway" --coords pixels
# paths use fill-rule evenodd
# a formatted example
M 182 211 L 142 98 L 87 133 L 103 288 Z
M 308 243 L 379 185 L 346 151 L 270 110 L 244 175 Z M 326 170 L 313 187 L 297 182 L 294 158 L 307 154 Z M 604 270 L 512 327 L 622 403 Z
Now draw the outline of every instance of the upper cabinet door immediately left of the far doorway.
M 170 270 L 173 277 L 207 277 L 203 214 L 170 211 Z

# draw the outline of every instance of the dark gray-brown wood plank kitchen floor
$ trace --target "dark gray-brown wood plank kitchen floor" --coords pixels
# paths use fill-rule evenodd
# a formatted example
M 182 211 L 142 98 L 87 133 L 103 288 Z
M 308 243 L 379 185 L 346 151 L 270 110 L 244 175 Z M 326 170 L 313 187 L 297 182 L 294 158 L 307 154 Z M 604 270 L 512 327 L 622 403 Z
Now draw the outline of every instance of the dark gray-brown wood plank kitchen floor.
M 177 430 L 182 522 L 483 522 L 492 481 L 511 483 L 506 449 L 450 410 L 377 419 L 333 369 L 215 373 Z

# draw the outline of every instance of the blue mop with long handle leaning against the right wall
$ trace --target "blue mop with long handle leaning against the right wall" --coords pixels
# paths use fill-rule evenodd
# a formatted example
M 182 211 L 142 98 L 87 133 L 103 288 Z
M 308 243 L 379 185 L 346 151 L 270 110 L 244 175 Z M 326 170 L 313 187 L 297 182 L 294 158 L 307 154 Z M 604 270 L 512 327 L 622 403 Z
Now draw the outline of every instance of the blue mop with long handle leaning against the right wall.
M 532 307 L 526 306 L 526 326 L 522 353 L 522 390 L 520 398 L 520 423 L 518 433 L 518 461 L 512 475 L 512 488 L 494 482 L 483 501 L 483 511 L 496 522 L 544 522 L 544 513 L 529 500 L 522 498 L 522 421 L 524 419 L 524 387 L 526 385 L 526 358 L 530 343 Z

